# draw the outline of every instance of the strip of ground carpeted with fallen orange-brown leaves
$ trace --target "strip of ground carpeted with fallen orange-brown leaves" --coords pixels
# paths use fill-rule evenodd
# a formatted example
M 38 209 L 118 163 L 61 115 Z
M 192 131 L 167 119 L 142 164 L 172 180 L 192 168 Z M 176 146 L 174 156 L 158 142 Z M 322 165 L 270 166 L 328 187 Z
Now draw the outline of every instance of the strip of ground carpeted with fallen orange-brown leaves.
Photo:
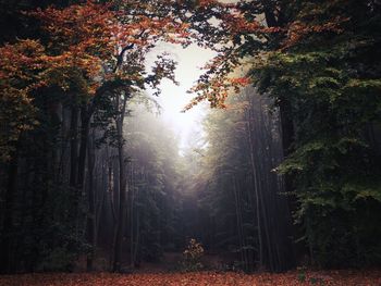
M 146 273 L 146 274 L 20 274 L 0 276 L 0 285 L 8 286 L 202 286 L 202 285 L 367 285 L 381 286 L 381 271 L 331 271 L 331 272 L 287 272 L 282 274 L 239 274 L 239 273 Z

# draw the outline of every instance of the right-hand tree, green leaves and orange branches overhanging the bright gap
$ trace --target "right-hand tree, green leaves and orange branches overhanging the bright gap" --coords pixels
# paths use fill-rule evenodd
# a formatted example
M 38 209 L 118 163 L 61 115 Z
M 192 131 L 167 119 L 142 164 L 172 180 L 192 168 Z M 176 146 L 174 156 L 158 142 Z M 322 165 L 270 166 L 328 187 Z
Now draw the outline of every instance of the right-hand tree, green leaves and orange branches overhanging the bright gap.
M 208 1 L 200 9 L 220 21 L 218 27 L 207 27 L 210 42 L 220 46 L 190 105 L 207 99 L 223 107 L 232 72 L 248 66 L 253 85 L 280 108 L 287 159 L 278 170 L 286 176 L 288 194 L 296 195 L 294 213 L 304 224 L 312 263 L 374 261 L 366 253 L 378 251 L 365 249 L 379 215 L 373 208 L 380 185 L 374 145 L 380 4 L 241 1 L 226 7 Z M 361 214 L 368 209 L 362 203 L 372 206 L 370 216 Z M 359 227 L 365 223 L 355 217 L 367 217 L 369 224 Z M 329 254 L 334 251 L 336 261 Z

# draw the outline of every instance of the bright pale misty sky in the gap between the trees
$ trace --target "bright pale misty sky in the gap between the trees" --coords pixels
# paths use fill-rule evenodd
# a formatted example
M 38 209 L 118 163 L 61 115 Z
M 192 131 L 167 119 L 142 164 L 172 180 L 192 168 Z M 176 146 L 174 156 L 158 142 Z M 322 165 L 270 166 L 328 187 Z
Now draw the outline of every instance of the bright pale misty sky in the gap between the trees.
M 213 58 L 214 53 L 196 45 L 183 49 L 180 45 L 163 42 L 151 51 L 147 65 L 150 65 L 155 61 L 156 54 L 161 52 L 171 53 L 179 63 L 175 77 L 180 85 L 176 86 L 172 82 L 164 79 L 160 86 L 162 92 L 157 98 L 157 101 L 162 107 L 164 122 L 180 137 L 180 152 L 183 153 L 185 149 L 190 147 L 188 145 L 190 138 L 202 133 L 201 121 L 208 110 L 208 103 L 204 102 L 182 113 L 183 108 L 195 96 L 187 94 L 186 90 L 194 85 L 202 73 L 199 67 Z

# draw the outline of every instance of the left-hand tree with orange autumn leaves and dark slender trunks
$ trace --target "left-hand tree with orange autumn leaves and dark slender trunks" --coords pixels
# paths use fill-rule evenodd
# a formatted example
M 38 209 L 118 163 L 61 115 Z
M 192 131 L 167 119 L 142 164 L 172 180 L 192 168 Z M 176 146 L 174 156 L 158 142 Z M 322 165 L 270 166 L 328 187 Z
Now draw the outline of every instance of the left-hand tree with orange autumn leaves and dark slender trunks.
M 147 3 L 142 3 L 140 9 L 146 5 Z M 4 58 L 1 63 L 1 89 L 5 95 L 1 98 L 4 103 L 1 105 L 7 108 L 1 109 L 1 120 L 10 124 L 1 130 L 0 148 L 3 151 L 2 161 L 11 162 L 10 174 L 5 178 L 9 181 L 5 191 L 8 206 L 2 216 L 5 235 L 1 240 L 4 253 L 11 251 L 9 234 L 14 233 L 11 232 L 12 216 L 15 215 L 13 201 L 20 195 L 14 181 L 17 172 L 25 169 L 24 165 L 17 166 L 17 162 L 24 158 L 40 161 L 41 175 L 36 176 L 41 182 L 51 182 L 49 187 L 45 183 L 44 186 L 37 185 L 45 194 L 41 198 L 42 210 L 50 208 L 47 203 L 52 186 L 70 189 L 71 195 L 66 199 L 74 211 L 64 210 L 69 215 L 64 215 L 66 217 L 61 222 L 70 229 L 64 232 L 73 232 L 69 240 L 73 239 L 79 245 L 85 240 L 86 160 L 90 124 L 96 112 L 109 116 L 103 117 L 103 127 L 110 128 L 110 133 L 113 126 L 116 127 L 115 140 L 120 147 L 122 178 L 120 194 L 124 196 L 126 174 L 123 171 L 122 124 L 126 101 L 135 90 L 145 88 L 145 85 L 156 88 L 161 78 L 173 78 L 174 62 L 165 57 L 160 57 L 153 74 L 147 75 L 145 55 L 159 38 L 169 35 L 174 37 L 186 28 L 183 24 L 170 21 L 168 16 L 158 17 L 148 12 L 148 15 L 135 14 L 138 8 L 137 2 L 132 7 L 118 7 L 113 3 L 87 1 L 63 9 L 50 7 L 28 12 L 28 15 L 40 21 L 44 34 L 41 39 L 20 40 L 1 48 Z M 123 9 L 125 11 L 121 13 Z M 42 138 L 42 134 L 41 153 L 29 152 L 24 146 L 26 139 Z M 27 156 L 21 154 L 19 149 Z M 24 191 L 29 192 L 36 195 L 32 190 Z M 121 217 L 124 217 L 125 212 L 123 200 L 120 200 Z M 33 208 L 37 207 L 38 203 L 34 203 Z M 35 217 L 35 214 L 30 215 Z M 123 221 L 120 225 L 123 227 Z M 118 241 L 122 233 L 116 235 Z M 53 239 L 51 244 L 57 245 L 57 241 Z M 119 248 L 119 244 L 115 247 Z M 9 265 L 8 256 L 3 258 L 3 264 Z M 119 262 L 114 264 L 118 265 Z

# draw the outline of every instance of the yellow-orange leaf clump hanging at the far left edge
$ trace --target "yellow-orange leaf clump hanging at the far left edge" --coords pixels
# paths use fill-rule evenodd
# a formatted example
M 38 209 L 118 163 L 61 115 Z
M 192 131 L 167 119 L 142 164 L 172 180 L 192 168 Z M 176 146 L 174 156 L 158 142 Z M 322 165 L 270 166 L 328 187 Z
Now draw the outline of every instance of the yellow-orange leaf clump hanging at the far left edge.
M 47 66 L 44 47 L 34 40 L 0 48 L 0 160 L 8 161 L 22 132 L 38 124 L 34 119 L 30 92 L 45 85 Z

